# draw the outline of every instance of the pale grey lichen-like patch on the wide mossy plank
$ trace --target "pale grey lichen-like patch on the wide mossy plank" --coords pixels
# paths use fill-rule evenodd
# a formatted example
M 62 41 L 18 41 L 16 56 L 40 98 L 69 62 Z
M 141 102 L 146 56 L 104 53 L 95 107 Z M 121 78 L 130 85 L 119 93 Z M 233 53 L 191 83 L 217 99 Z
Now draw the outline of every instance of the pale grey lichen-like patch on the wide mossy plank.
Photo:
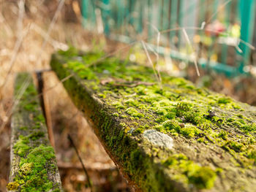
M 153 145 L 165 147 L 168 149 L 173 148 L 173 138 L 159 131 L 153 129 L 146 130 L 143 132 L 143 137 L 148 139 L 148 141 L 151 142 Z

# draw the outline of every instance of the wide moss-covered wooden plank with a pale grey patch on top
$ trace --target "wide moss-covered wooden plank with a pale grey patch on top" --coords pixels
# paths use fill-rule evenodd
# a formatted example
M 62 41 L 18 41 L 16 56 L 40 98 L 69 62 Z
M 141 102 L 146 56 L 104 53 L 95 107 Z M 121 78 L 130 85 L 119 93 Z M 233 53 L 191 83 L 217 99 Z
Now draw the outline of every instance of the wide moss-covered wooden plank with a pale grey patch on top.
M 102 56 L 71 48 L 50 65 L 137 191 L 255 190 L 255 107 Z

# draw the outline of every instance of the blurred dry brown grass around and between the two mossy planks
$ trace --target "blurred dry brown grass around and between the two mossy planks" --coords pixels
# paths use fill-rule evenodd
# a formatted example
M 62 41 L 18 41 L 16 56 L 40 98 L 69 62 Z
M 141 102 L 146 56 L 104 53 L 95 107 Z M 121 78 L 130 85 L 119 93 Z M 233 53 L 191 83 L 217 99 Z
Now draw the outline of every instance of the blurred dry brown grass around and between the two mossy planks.
M 59 1 L 0 0 L 0 191 L 6 191 L 10 169 L 10 116 L 15 73 L 49 69 L 53 51 L 65 49 L 67 45 L 89 50 L 98 40 L 81 27 L 78 1 L 65 1 L 53 23 L 58 5 Z M 78 156 L 67 139 L 70 134 L 94 183 L 94 191 L 129 191 L 55 74 L 45 72 L 44 80 L 64 189 L 89 191 Z

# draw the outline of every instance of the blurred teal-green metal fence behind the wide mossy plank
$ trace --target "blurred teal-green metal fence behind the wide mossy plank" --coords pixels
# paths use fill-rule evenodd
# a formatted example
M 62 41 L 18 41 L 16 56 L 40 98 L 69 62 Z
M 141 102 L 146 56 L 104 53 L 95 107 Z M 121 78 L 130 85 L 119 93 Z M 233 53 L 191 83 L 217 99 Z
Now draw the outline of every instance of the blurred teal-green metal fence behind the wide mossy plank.
M 255 8 L 255 0 L 82 0 L 85 28 L 95 31 L 102 23 L 112 39 L 145 39 L 159 53 L 181 61 L 192 60 L 195 52 L 201 67 L 227 76 L 246 72 Z

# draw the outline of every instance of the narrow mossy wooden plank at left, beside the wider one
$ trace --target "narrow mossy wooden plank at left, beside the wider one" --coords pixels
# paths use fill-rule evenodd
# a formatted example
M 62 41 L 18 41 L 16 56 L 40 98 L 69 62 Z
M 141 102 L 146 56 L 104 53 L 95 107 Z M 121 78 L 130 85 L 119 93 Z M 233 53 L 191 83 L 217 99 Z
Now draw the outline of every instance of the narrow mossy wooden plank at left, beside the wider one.
M 61 191 L 56 156 L 31 74 L 15 80 L 8 191 Z

